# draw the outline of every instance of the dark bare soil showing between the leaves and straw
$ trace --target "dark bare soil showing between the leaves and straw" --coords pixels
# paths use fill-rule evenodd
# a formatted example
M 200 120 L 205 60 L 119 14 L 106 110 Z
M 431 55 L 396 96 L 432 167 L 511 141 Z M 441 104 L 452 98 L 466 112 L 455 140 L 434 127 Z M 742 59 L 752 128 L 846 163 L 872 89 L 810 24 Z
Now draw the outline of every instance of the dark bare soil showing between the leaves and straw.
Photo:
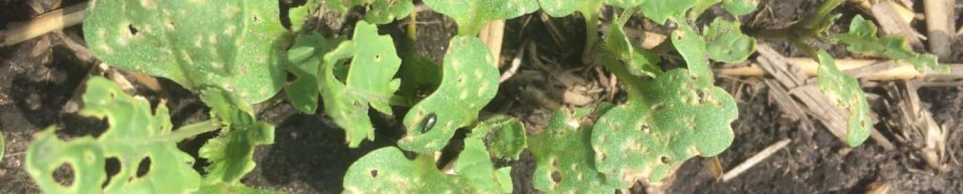
M 23 21 L 37 15 L 26 0 L 0 0 L 0 29 L 13 22 Z M 53 10 L 60 4 L 55 0 L 40 1 L 44 10 Z M 813 12 L 821 1 L 779 0 L 763 1 L 765 5 L 755 14 L 743 16 L 751 27 L 787 26 Z M 66 2 L 64 5 L 72 5 Z M 844 18 L 858 11 L 848 6 L 840 11 Z M 963 10 L 957 8 L 957 12 Z M 440 14 L 423 12 L 418 16 L 419 33 L 417 48 L 422 55 L 441 62 L 448 40 L 455 35 L 455 23 Z M 503 60 L 510 60 L 521 42 L 532 40 L 538 45 L 538 55 L 554 63 L 553 69 L 577 71 L 585 79 L 597 82 L 600 74 L 584 69 L 581 64 L 581 48 L 585 45 L 580 16 L 551 19 L 566 32 L 560 33 L 565 42 L 555 42 L 549 26 L 537 15 L 512 19 L 507 24 Z M 957 19 L 963 23 L 963 19 Z M 403 38 L 406 21 L 384 25 L 381 31 L 396 40 Z M 847 21 L 834 28 L 845 26 Z M 642 25 L 641 21 L 634 22 Z M 350 27 L 350 26 L 348 26 Z M 636 26 L 639 27 L 639 26 Z M 644 28 L 656 27 L 645 26 Z M 664 30 L 664 29 L 663 29 Z M 842 29 L 837 29 L 842 30 Z M 66 34 L 82 35 L 79 27 L 65 29 Z M 65 111 L 66 104 L 83 92 L 81 87 L 89 76 L 93 63 L 79 60 L 63 45 L 61 37 L 48 34 L 39 39 L 0 47 L 0 131 L 6 139 L 6 154 L 0 161 L 0 193 L 39 193 L 33 180 L 22 170 L 23 151 L 41 129 L 57 125 L 62 138 L 97 135 L 107 125 L 103 121 L 84 118 Z M 788 56 L 803 54 L 786 42 L 763 41 L 772 44 Z M 957 42 L 963 42 L 958 39 Z M 826 47 L 837 57 L 848 56 L 839 46 Z M 954 44 L 954 58 L 946 62 L 963 62 L 963 43 Z M 522 69 L 554 72 L 523 65 Z M 515 78 L 513 78 L 515 79 Z M 748 84 L 746 84 L 748 83 Z M 950 160 L 949 171 L 934 172 L 924 164 L 919 153 L 908 146 L 897 145 L 893 151 L 884 151 L 872 140 L 864 146 L 848 149 L 824 128 L 804 127 L 786 119 L 779 113 L 774 102 L 768 99 L 765 85 L 752 85 L 751 80 L 720 78 L 717 84 L 738 97 L 740 117 L 733 126 L 736 139 L 726 152 L 718 155 L 723 168 L 730 169 L 770 144 L 782 139 L 793 142 L 760 162 L 740 177 L 726 182 L 716 181 L 703 167 L 704 158 L 693 158 L 676 174 L 668 193 L 863 193 L 872 182 L 886 182 L 893 193 L 963 193 L 963 171 L 960 164 Z M 758 82 L 757 82 L 758 83 Z M 540 103 L 532 102 L 530 93 L 522 88 L 545 85 L 509 81 L 502 86 L 498 97 L 486 108 L 488 113 L 505 113 L 519 117 L 530 124 L 531 132 L 550 111 Z M 195 95 L 176 84 L 162 79 L 165 98 L 174 125 L 187 125 L 206 119 L 207 108 Z M 742 89 L 738 89 L 742 88 Z M 158 94 L 138 90 L 140 95 L 155 103 Z M 963 118 L 963 87 L 925 88 L 920 93 L 923 101 L 931 104 L 929 111 L 938 124 L 950 131 L 948 151 L 950 158 L 963 158 L 963 133 L 959 129 Z M 597 101 L 619 101 L 624 94 Z M 398 138 L 396 118 L 372 113 L 377 120 L 377 139 L 364 142 L 361 148 L 348 149 L 343 130 L 334 125 L 324 114 L 300 113 L 286 100 L 283 92 L 267 102 L 259 104 L 258 118 L 275 125 L 275 144 L 255 151 L 257 167 L 243 180 L 251 186 L 271 188 L 288 193 L 339 193 L 347 168 L 366 152 L 377 148 L 394 146 Z M 594 103 L 594 102 L 593 102 Z M 873 107 L 886 110 L 887 107 Z M 882 116 L 882 120 L 887 117 Z M 211 135 L 201 135 L 183 142 L 185 152 L 196 154 L 199 145 Z M 198 160 L 198 167 L 203 161 Z M 519 161 L 499 161 L 500 165 L 513 168 L 517 193 L 537 192 L 530 181 L 534 158 L 523 153 Z M 66 173 L 59 173 L 68 177 Z M 633 189 L 634 191 L 643 189 Z

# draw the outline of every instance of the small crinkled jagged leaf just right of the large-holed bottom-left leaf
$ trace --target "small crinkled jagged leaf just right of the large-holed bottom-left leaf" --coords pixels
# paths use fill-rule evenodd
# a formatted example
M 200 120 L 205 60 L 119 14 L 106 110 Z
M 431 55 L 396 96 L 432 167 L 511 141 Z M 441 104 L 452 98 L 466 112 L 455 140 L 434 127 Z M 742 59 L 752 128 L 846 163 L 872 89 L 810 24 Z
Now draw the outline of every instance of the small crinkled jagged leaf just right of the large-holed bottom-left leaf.
M 225 126 L 198 151 L 209 163 L 203 187 L 231 193 L 245 187 L 241 178 L 254 169 L 254 147 L 273 144 L 274 126 L 257 122 L 247 102 L 221 89 L 206 89 L 201 99 L 211 107 L 211 117 Z

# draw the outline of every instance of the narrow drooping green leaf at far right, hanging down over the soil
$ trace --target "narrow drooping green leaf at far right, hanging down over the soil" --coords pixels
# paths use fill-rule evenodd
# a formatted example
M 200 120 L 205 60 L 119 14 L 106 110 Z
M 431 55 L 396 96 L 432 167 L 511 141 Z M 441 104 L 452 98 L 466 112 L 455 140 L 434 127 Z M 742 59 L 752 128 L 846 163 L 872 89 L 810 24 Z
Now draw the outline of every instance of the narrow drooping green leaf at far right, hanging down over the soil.
M 820 90 L 833 103 L 849 110 L 849 119 L 846 122 L 846 145 L 859 146 L 870 137 L 870 130 L 872 130 L 870 105 L 866 101 L 866 94 L 859 87 L 856 78 L 836 68 L 832 55 L 820 50 L 817 59 L 820 61 L 818 77 Z

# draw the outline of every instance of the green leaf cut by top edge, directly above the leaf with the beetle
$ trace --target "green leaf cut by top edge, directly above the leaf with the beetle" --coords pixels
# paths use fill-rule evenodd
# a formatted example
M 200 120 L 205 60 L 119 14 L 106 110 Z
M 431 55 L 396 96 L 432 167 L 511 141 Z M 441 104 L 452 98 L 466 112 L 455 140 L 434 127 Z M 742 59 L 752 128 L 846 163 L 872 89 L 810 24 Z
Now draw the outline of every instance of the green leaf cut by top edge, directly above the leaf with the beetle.
M 509 19 L 538 10 L 535 0 L 425 0 L 431 10 L 458 23 L 458 35 L 474 36 L 495 19 Z

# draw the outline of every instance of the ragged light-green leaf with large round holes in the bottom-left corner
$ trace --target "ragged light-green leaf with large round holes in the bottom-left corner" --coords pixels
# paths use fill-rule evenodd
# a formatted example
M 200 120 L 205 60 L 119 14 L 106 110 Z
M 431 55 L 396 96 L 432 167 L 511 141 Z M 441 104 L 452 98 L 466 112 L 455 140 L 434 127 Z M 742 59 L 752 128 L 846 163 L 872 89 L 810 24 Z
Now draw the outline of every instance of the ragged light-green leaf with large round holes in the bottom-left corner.
M 171 132 L 164 103 L 156 110 L 143 97 L 129 97 L 103 77 L 91 77 L 83 96 L 81 115 L 107 119 L 110 125 L 100 136 L 62 141 L 51 126 L 37 135 L 27 149 L 25 168 L 45 193 L 187 193 L 197 190 L 200 175 L 192 168 L 194 157 L 177 149 L 184 137 Z M 216 127 L 211 124 L 205 127 Z M 119 162 L 109 182 L 105 163 Z M 149 170 L 138 176 L 138 166 L 150 160 Z M 53 172 L 68 165 L 73 172 L 69 186 L 54 180 Z

